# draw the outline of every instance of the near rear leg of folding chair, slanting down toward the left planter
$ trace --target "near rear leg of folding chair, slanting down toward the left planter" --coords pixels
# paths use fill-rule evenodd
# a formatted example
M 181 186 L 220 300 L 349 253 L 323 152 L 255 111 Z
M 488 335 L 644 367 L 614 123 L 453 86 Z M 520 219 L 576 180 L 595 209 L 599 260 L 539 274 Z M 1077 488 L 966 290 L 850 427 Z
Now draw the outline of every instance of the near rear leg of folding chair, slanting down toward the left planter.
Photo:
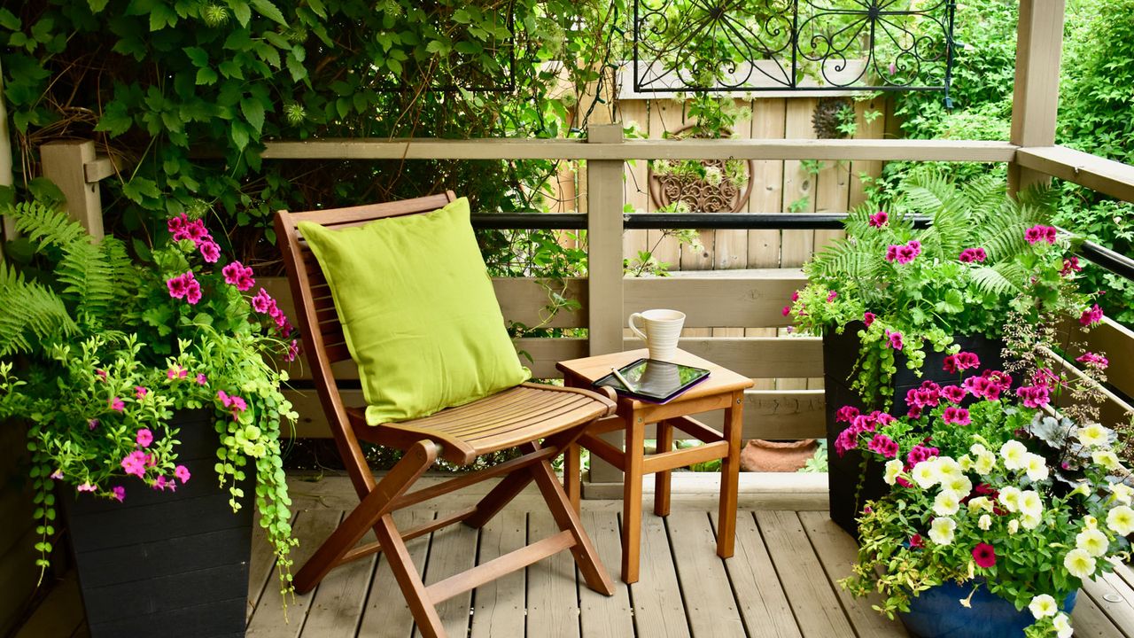
M 405 494 L 409 486 L 433 464 L 433 461 L 437 460 L 437 444 L 431 440 L 420 440 L 407 450 L 406 455 L 398 461 L 390 473 L 374 486 L 374 489 L 339 523 L 339 527 L 335 528 L 335 531 L 295 574 L 293 581 L 295 590 L 305 594 L 314 589 L 323 580 L 323 577 L 339 564 L 342 556 L 358 543 L 367 529 L 373 527 L 374 532 L 378 534 L 379 527 L 375 523 L 391 511 L 393 500 Z M 398 540 L 401 540 L 400 536 L 398 536 Z M 379 543 L 383 549 L 387 548 L 384 539 L 379 538 Z

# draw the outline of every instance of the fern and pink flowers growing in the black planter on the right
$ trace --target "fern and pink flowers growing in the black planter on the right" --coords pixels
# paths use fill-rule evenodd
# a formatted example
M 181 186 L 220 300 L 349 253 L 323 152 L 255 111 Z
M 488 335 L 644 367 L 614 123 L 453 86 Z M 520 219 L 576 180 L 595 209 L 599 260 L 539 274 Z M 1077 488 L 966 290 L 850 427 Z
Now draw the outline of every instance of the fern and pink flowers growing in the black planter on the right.
M 898 351 L 920 373 L 926 347 L 955 351 L 959 335 L 998 337 L 1009 310 L 1027 320 L 1084 311 L 1090 297 L 1064 259 L 1068 241 L 1046 225 L 1051 205 L 1050 191 L 1013 200 L 995 177 L 909 179 L 890 212 L 866 204 L 848 216 L 847 237 L 804 266 L 809 285 L 784 314 L 806 334 L 856 330 L 852 387 L 874 404 L 897 372 Z M 915 229 L 914 215 L 930 225 Z

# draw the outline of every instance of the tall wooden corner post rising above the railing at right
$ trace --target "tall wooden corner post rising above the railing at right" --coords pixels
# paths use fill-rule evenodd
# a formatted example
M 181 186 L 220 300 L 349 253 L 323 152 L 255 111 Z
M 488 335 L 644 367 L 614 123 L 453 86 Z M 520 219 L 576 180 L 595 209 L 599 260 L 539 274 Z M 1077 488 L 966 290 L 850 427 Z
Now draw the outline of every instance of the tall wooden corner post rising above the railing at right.
M 1012 98 L 1013 144 L 1025 148 L 1055 145 L 1065 5 L 1066 0 L 1019 2 L 1016 85 Z M 1009 193 L 1049 179 L 1014 161 L 1008 163 Z

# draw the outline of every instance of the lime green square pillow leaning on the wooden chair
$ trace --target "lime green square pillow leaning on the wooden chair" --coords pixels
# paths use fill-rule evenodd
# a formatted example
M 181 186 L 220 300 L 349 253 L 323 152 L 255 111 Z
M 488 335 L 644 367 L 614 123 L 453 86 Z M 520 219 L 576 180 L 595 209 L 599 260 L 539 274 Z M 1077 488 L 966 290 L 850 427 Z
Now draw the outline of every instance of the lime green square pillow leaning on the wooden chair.
M 366 422 L 417 419 L 527 380 L 467 199 L 340 230 L 298 227 L 331 286 Z

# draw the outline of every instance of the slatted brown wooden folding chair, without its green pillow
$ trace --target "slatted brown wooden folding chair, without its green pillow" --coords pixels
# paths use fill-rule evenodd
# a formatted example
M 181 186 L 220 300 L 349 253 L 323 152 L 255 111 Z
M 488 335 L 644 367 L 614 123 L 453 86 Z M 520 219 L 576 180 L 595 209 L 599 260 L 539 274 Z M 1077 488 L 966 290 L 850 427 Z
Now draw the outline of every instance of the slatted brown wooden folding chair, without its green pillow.
M 361 500 L 341 524 L 295 574 L 295 589 L 306 593 L 336 566 L 375 552 L 384 552 L 390 569 L 424 636 L 445 636 L 437 604 L 489 582 L 508 572 L 570 549 L 587 587 L 606 595 L 613 584 L 599 562 L 594 546 L 570 507 L 550 461 L 574 443 L 594 420 L 615 409 L 613 393 L 525 383 L 480 401 L 450 408 L 430 417 L 397 423 L 369 426 L 365 406 L 342 403 L 335 363 L 350 354 L 342 336 L 330 288 L 314 254 L 298 236 L 299 221 L 327 227 L 357 226 L 367 221 L 428 212 L 454 201 L 452 192 L 398 202 L 320 210 L 279 211 L 276 234 L 281 242 L 291 292 L 296 301 L 303 344 L 331 433 Z M 375 481 L 363 456 L 359 440 L 405 451 L 405 456 Z M 409 492 L 409 487 L 438 459 L 466 465 L 477 456 L 518 447 L 523 455 L 443 484 Z M 493 477 L 505 477 L 475 506 L 414 529 L 399 530 L 392 512 Z M 413 564 L 405 542 L 462 521 L 471 527 L 486 523 L 531 481 L 535 481 L 551 515 L 561 530 L 526 547 L 426 587 Z M 376 543 L 355 547 L 373 529 Z

